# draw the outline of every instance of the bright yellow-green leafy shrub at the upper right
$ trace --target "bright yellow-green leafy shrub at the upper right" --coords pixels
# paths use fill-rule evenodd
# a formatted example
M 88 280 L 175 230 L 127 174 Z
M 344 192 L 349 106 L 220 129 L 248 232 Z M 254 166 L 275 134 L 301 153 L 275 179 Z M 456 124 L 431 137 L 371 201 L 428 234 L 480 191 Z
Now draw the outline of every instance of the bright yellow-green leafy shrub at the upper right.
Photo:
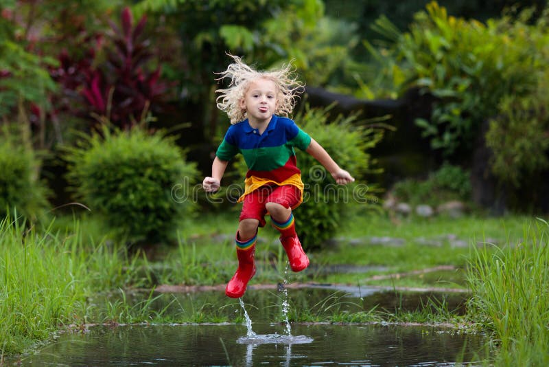
M 433 149 L 447 156 L 470 152 L 482 122 L 498 114 L 504 96 L 522 96 L 547 69 L 546 16 L 504 14 L 486 24 L 449 16 L 432 1 L 401 33 L 386 19 L 375 27 L 393 41 L 367 47 L 400 92 L 419 87 L 436 98 L 428 120 L 417 124 Z

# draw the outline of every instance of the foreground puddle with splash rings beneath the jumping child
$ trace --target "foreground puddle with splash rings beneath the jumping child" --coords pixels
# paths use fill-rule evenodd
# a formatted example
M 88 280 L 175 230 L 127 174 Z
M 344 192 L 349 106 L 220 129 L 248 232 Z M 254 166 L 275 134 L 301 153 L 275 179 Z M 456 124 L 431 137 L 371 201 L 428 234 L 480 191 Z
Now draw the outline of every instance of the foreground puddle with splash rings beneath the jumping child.
M 254 329 L 285 332 L 280 324 Z M 242 325 L 98 326 L 62 335 L 21 365 L 449 366 L 484 356 L 482 337 L 428 326 L 294 324 L 292 335 L 294 343 L 254 344 L 243 341 Z

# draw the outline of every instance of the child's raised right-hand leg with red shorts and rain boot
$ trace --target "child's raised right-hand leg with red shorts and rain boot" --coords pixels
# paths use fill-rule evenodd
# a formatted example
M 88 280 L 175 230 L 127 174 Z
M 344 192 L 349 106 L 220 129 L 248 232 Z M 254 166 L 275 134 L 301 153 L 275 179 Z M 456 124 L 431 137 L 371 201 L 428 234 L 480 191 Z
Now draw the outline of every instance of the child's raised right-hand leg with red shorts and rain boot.
M 309 258 L 303 251 L 295 230 L 294 214 L 291 207 L 299 203 L 301 192 L 294 186 L 281 186 L 274 190 L 265 204 L 274 228 L 280 232 L 280 242 L 290 260 L 293 271 L 301 271 L 309 266 Z

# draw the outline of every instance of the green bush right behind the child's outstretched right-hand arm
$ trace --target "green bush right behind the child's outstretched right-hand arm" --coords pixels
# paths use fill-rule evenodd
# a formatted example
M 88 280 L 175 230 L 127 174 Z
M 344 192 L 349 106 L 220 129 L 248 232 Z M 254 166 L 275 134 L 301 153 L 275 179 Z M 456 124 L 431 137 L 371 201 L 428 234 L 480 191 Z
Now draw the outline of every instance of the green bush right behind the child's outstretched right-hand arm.
M 321 249 L 329 238 L 338 235 L 349 205 L 371 205 L 377 201 L 375 187 L 361 180 L 372 168 L 367 151 L 383 137 L 383 130 L 361 126 L 355 115 L 328 121 L 324 109 L 306 109 L 294 119 L 296 124 L 318 142 L 338 165 L 355 177 L 355 183 L 337 185 L 336 181 L 311 155 L 296 149 L 297 165 L 305 184 L 303 203 L 295 210 L 296 231 L 305 250 Z M 242 176 L 246 165 L 235 166 Z

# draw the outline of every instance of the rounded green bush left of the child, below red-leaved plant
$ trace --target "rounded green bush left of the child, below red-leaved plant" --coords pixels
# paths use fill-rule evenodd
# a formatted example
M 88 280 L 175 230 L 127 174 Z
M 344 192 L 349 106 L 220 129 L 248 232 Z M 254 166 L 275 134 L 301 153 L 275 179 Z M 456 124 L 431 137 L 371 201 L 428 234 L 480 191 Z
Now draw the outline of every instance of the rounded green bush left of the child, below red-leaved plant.
M 194 208 L 189 187 L 198 173 L 172 138 L 138 128 L 103 129 L 68 151 L 68 178 L 78 198 L 118 238 L 170 240 Z

